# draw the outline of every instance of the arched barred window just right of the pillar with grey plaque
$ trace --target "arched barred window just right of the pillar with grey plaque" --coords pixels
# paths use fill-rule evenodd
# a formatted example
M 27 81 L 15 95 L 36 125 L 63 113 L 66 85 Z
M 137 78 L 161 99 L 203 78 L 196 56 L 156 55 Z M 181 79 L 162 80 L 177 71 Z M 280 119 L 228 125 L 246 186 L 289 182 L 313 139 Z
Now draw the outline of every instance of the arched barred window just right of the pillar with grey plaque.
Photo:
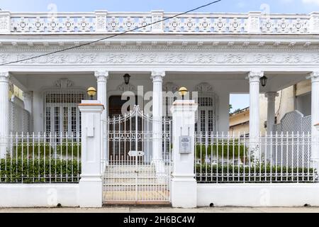
M 198 92 L 196 132 L 216 134 L 218 132 L 218 96 L 208 83 L 198 84 L 195 91 Z

